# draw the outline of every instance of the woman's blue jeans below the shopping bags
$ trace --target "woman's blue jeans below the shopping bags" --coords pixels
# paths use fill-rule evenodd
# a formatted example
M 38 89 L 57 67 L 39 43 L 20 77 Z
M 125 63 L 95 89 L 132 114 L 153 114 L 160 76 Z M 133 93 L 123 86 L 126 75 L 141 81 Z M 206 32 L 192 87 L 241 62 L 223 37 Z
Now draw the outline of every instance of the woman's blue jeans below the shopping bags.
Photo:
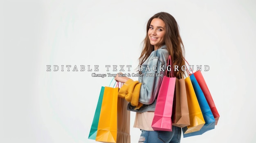
M 138 143 L 180 143 L 181 128 L 173 126 L 172 132 L 141 130 Z

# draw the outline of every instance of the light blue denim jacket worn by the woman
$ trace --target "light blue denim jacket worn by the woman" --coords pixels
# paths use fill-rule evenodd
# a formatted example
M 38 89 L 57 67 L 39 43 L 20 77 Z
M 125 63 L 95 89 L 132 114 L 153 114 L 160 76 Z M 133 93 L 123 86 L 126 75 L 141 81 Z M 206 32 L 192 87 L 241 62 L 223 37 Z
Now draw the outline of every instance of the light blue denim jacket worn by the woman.
M 142 83 L 139 92 L 139 102 L 144 105 L 135 110 L 135 106 L 129 103 L 127 110 L 133 112 L 155 111 L 156 98 L 164 77 L 168 57 L 169 53 L 164 45 L 153 51 L 146 61 L 139 66 L 139 71 L 142 74 L 138 79 Z

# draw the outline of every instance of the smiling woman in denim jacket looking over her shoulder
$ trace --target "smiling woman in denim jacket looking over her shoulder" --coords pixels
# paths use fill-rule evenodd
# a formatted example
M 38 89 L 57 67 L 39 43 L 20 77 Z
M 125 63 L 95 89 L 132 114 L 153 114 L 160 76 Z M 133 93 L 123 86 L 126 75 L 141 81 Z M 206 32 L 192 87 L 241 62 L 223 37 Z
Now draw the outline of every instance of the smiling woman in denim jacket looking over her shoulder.
M 172 132 L 154 131 L 153 121 L 157 93 L 171 55 L 173 65 L 178 66 L 175 77 L 184 77 L 181 66 L 185 65 L 183 43 L 179 26 L 172 15 L 160 12 L 148 20 L 144 48 L 139 57 L 138 81 L 117 74 L 116 81 L 125 83 L 119 96 L 127 97 L 128 110 L 137 112 L 134 127 L 141 130 L 139 143 L 180 143 L 181 128 L 173 126 Z M 173 67 L 173 66 L 172 66 Z

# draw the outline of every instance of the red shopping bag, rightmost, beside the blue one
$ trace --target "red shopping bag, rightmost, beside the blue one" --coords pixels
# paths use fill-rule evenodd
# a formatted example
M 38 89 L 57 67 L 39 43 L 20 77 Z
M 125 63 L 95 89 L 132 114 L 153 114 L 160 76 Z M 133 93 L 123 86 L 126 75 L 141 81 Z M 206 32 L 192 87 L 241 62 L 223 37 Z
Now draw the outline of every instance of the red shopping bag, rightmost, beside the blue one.
M 194 75 L 195 75 L 195 79 L 198 81 L 198 84 L 199 84 L 200 88 L 202 89 L 202 92 L 204 93 L 204 96 L 205 96 L 205 98 L 207 100 L 207 103 L 209 104 L 209 106 L 211 108 L 211 112 L 213 113 L 213 117 L 214 117 L 214 119 L 216 121 L 215 125 L 217 125 L 218 120 L 220 118 L 220 115 L 219 115 L 218 110 L 217 110 L 217 108 L 215 106 L 215 103 L 213 101 L 213 98 L 211 96 L 209 88 L 208 88 L 208 86 L 207 86 L 207 84 L 206 84 L 206 82 L 204 80 L 204 77 L 202 76 L 202 73 L 201 73 L 200 70 L 196 71 L 194 73 Z

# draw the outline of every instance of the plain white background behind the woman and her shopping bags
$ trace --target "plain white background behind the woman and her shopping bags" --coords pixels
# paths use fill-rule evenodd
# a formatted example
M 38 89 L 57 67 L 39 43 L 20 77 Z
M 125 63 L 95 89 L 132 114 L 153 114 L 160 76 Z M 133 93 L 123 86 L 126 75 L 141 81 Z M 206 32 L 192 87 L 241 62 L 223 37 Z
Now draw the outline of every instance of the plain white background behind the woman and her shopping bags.
M 132 65 L 146 22 L 175 17 L 191 65 L 220 114 L 214 130 L 182 143 L 255 143 L 256 2 L 253 0 L 4 0 L 1 4 L 1 143 L 95 143 L 88 139 L 101 86 L 111 77 L 47 72 L 46 65 Z M 120 69 L 120 68 L 118 68 Z M 87 70 L 87 69 L 86 69 Z M 94 70 L 94 69 L 93 69 Z M 125 69 L 127 73 L 127 68 Z M 110 73 L 113 72 L 110 68 Z M 137 78 L 133 78 L 137 79 Z M 133 128 L 131 143 L 139 139 Z

